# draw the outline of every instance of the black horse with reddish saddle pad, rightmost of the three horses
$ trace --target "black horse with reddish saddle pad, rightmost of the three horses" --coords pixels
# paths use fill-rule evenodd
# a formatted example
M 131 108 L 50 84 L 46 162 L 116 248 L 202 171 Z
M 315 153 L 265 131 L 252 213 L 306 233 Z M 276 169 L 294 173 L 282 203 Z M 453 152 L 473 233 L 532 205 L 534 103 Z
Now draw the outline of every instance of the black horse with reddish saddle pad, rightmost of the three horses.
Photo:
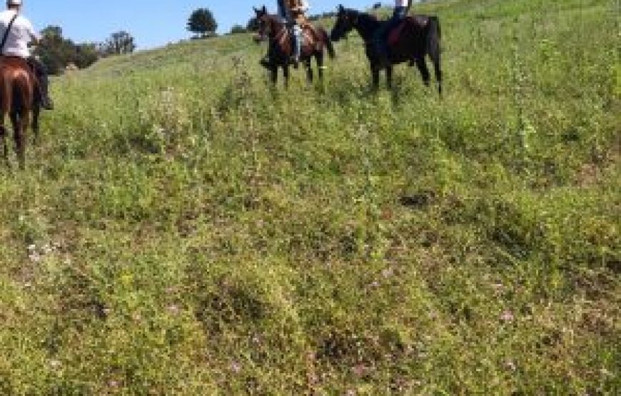
M 375 16 L 345 9 L 338 6 L 336 24 L 330 34 L 330 39 L 338 41 L 355 29 L 365 41 L 367 58 L 370 62 L 373 75 L 373 87 L 380 85 L 380 70 L 385 68 L 388 88 L 393 83 L 393 65 L 408 62 L 410 66 L 418 66 L 425 85 L 430 84 L 430 73 L 425 62 L 429 56 L 435 68 L 435 78 L 438 80 L 438 91 L 442 94 L 442 68 L 440 64 L 440 21 L 437 16 L 410 16 L 402 24 L 389 32 L 388 59 L 378 54 L 376 35 L 378 29 L 385 24 Z

